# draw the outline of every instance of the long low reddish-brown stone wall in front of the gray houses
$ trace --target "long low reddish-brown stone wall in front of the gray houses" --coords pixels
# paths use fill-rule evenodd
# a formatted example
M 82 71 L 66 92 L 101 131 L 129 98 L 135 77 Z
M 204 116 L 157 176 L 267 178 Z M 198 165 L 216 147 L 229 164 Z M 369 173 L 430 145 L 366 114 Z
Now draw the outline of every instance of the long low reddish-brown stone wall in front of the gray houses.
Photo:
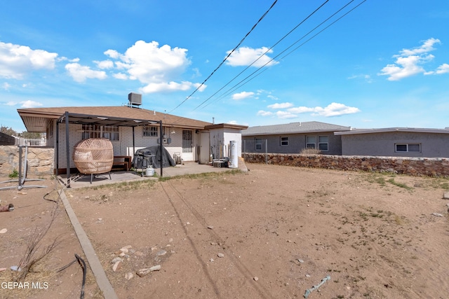
M 301 155 L 243 153 L 245 162 L 365 172 L 393 172 L 411 176 L 449 176 L 449 158 L 401 158 L 360 155 Z

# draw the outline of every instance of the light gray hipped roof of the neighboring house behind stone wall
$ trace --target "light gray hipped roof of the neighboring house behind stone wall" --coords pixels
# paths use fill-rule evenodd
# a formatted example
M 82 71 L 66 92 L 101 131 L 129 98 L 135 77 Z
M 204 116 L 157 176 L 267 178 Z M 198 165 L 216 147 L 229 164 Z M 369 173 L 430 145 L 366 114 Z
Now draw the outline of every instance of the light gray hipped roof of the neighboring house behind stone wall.
M 242 130 L 241 134 L 242 136 L 254 136 L 349 130 L 351 130 L 351 127 L 333 125 L 330 123 L 320 123 L 317 121 L 309 121 L 303 123 L 286 123 L 283 125 L 261 125 L 256 127 L 248 127 L 247 130 Z

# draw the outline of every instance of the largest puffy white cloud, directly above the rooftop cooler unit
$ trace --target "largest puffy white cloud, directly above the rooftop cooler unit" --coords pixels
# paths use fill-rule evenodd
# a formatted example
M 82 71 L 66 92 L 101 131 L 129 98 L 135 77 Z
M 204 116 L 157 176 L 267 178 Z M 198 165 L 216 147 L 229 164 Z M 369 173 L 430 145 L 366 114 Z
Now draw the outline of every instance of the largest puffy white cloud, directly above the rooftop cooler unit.
M 199 86 L 199 83 L 177 82 L 190 64 L 184 48 L 159 46 L 156 41 L 136 41 L 124 54 L 107 50 L 105 55 L 114 60 L 116 69 L 121 70 L 118 76 L 113 75 L 114 78 L 138 80 L 145 84 L 140 89 L 144 93 L 189 90 Z M 199 91 L 204 88 L 206 85 Z

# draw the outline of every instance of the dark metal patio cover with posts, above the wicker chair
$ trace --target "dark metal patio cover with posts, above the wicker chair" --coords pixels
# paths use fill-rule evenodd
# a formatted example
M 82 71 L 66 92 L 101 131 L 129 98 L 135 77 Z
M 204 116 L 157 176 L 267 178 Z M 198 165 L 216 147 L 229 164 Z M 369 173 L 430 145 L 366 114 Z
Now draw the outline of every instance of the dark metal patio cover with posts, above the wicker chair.
M 134 144 L 134 127 L 141 125 L 154 125 L 159 123 L 160 131 L 162 132 L 162 120 L 143 120 L 133 118 L 119 118 L 115 116 L 95 116 L 88 114 L 69 113 L 66 111 L 56 123 L 56 175 L 58 175 L 59 168 L 59 124 L 65 123 L 65 142 L 66 142 L 66 158 L 67 158 L 67 188 L 70 188 L 70 146 L 69 146 L 69 123 L 85 124 L 85 125 L 113 125 L 117 127 L 133 127 L 133 152 L 135 152 Z M 163 148 L 162 134 L 159 134 L 159 147 Z M 160 159 L 162 160 L 163 151 L 159 151 Z M 161 176 L 162 176 L 161 167 Z

